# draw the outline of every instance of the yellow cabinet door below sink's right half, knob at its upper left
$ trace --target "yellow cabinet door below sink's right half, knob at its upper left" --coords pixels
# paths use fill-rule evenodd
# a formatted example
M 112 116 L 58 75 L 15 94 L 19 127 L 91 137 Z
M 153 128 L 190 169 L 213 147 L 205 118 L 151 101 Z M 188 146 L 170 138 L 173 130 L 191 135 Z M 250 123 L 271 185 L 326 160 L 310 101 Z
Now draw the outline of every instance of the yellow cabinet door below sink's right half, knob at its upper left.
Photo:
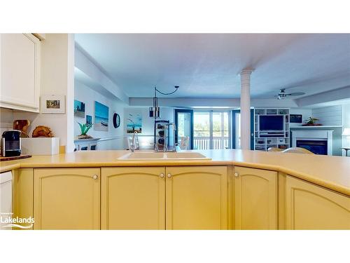
M 166 168 L 167 229 L 228 229 L 228 167 Z

